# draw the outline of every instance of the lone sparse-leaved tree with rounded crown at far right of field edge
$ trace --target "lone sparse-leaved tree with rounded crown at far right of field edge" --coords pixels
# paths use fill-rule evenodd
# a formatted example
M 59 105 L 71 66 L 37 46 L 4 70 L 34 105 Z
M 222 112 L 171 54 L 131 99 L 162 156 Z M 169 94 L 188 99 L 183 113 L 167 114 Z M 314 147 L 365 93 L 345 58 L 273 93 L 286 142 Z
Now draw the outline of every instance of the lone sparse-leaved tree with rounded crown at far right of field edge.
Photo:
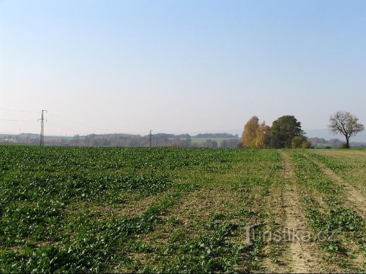
M 329 118 L 328 128 L 334 134 L 341 133 L 346 137 L 346 146 L 349 147 L 349 138 L 365 130 L 363 124 L 358 123 L 358 117 L 347 111 L 337 111 Z

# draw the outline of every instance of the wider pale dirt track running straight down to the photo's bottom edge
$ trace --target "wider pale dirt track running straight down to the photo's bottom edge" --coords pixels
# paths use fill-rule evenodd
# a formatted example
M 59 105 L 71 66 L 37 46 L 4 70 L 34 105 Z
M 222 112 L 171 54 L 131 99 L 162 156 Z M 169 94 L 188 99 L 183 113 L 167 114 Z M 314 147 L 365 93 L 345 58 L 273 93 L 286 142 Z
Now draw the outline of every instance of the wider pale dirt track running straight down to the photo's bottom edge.
M 300 202 L 299 189 L 296 184 L 294 169 L 290 164 L 289 156 L 281 152 L 284 161 L 282 181 L 272 189 L 268 199 L 268 210 L 274 217 L 277 229 L 289 232 L 293 239 L 293 231 L 297 235 L 307 233 L 307 222 L 304 209 Z M 296 234 L 295 234 L 296 235 Z M 275 264 L 267 258 L 264 261 L 265 271 L 277 273 L 317 273 L 326 272 L 322 267 L 321 252 L 313 242 L 300 240 L 288 240 L 282 244 L 280 250 L 280 262 Z

